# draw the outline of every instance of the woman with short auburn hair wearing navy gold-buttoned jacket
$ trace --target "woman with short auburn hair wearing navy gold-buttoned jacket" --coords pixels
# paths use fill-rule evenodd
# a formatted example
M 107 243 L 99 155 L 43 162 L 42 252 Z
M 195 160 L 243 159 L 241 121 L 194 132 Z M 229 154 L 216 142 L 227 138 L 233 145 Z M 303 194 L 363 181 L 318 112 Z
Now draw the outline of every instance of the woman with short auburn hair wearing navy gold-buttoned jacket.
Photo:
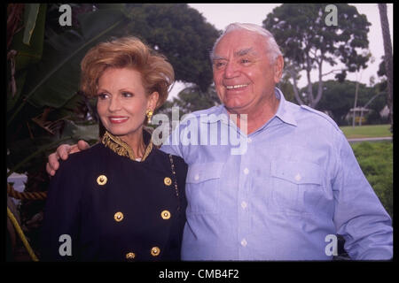
M 99 43 L 83 58 L 82 92 L 97 98 L 106 133 L 51 179 L 43 260 L 179 260 L 187 165 L 144 131 L 173 80 L 165 57 L 135 37 Z

